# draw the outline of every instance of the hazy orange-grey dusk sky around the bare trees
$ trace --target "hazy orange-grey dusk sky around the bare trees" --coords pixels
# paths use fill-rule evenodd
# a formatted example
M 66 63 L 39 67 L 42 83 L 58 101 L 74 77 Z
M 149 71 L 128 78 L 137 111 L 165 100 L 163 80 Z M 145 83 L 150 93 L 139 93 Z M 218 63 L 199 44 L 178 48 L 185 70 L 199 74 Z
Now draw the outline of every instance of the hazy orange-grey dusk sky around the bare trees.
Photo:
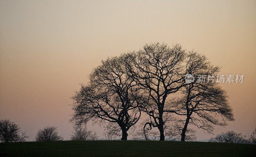
M 79 83 L 107 56 L 148 42 L 180 43 L 244 74 L 223 84 L 235 122 L 214 133 L 250 135 L 256 126 L 256 1 L 10 1 L 0 0 L 0 119 L 34 140 L 56 125 L 69 138 L 68 104 Z M 88 126 L 98 131 L 103 128 Z M 212 135 L 198 130 L 198 139 Z

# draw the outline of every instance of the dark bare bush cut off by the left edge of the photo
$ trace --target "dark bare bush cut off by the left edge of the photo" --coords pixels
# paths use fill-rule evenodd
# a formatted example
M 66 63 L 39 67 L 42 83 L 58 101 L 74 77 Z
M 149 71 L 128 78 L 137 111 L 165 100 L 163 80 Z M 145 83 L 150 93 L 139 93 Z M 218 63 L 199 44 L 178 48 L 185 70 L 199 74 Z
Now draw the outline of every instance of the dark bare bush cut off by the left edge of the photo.
M 19 125 L 10 119 L 1 119 L 0 121 L 0 141 L 1 142 L 24 142 L 28 136 L 26 131 L 20 132 Z

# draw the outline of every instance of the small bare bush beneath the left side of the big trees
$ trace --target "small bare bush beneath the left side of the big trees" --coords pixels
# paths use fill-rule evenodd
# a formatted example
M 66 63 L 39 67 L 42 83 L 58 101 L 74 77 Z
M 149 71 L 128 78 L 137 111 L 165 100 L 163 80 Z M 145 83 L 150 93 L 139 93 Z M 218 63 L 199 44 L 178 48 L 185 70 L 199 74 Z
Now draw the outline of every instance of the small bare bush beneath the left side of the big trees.
M 86 127 L 82 125 L 74 126 L 74 131 L 72 131 L 71 140 L 83 141 L 83 140 L 97 140 L 98 136 L 96 131 L 87 130 Z

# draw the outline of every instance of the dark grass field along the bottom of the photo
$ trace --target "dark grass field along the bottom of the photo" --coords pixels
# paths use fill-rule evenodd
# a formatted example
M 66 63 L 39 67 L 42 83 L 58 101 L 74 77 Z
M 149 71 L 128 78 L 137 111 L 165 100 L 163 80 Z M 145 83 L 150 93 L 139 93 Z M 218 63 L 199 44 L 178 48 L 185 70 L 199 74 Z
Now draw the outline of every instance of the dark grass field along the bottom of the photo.
M 178 141 L 0 143 L 0 156 L 256 156 L 256 145 Z

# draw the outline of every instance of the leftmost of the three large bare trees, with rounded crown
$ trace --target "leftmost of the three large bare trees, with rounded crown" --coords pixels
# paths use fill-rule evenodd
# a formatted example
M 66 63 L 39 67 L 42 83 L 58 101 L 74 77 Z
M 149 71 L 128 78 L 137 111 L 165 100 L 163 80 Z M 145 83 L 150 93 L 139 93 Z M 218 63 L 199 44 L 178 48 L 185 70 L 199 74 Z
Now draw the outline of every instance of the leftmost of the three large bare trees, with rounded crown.
M 121 140 L 127 140 L 127 132 L 140 118 L 139 106 L 144 100 L 134 79 L 126 75 L 124 60 L 124 55 L 108 58 L 92 71 L 88 85 L 81 85 L 72 97 L 71 122 L 116 123 L 118 127 L 112 129 L 122 135 Z

